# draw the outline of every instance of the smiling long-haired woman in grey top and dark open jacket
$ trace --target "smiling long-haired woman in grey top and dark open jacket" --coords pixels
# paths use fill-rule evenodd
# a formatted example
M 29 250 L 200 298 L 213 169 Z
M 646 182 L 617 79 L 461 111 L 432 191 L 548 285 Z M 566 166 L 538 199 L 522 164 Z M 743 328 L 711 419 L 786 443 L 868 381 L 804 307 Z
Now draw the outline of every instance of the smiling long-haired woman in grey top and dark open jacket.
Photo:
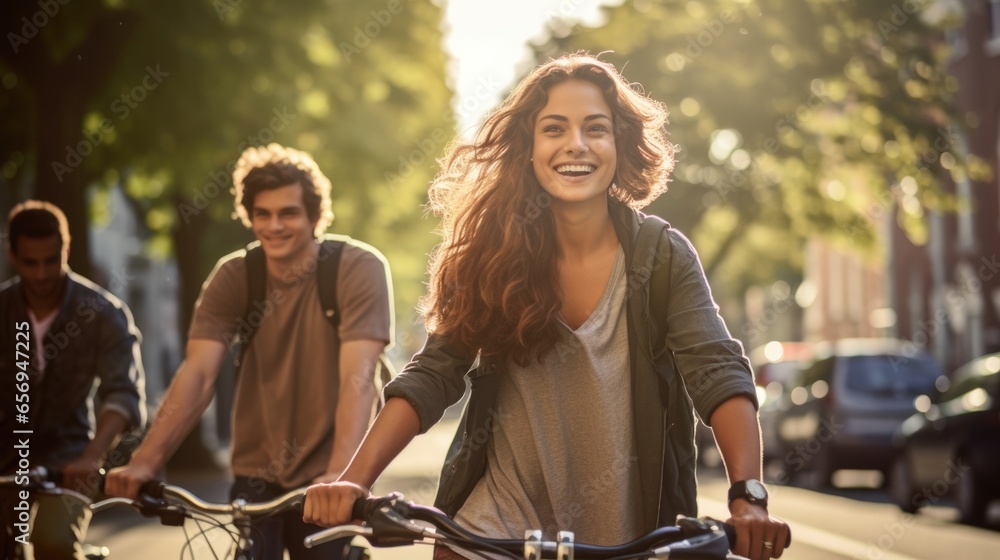
M 749 363 L 690 243 L 637 211 L 673 169 L 666 117 L 610 64 L 567 55 L 534 69 L 472 141 L 451 147 L 429 193 L 444 238 L 424 300 L 430 336 L 386 386 L 341 481 L 309 489 L 307 521 L 349 521 L 354 500 L 468 377 L 435 502 L 463 527 L 612 545 L 695 514 L 695 407 L 734 483 L 734 552 L 781 556 L 788 527 L 768 515 L 758 480 Z M 669 301 L 650 313 L 667 281 Z M 613 487 L 601 483 L 609 477 Z

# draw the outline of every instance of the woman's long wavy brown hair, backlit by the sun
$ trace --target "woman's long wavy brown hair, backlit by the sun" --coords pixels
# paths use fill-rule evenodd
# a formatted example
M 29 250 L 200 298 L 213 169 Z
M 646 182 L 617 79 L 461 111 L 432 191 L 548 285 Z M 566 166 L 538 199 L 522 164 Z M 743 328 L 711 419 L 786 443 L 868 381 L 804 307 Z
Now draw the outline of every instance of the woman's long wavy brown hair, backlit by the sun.
M 479 129 L 440 160 L 429 208 L 442 218 L 421 302 L 428 331 L 468 356 L 506 354 L 525 366 L 559 340 L 558 245 L 551 200 L 531 164 L 533 130 L 548 91 L 597 85 L 611 108 L 618 165 L 610 197 L 642 208 L 666 191 L 674 164 L 666 107 L 611 64 L 576 53 L 535 68 Z

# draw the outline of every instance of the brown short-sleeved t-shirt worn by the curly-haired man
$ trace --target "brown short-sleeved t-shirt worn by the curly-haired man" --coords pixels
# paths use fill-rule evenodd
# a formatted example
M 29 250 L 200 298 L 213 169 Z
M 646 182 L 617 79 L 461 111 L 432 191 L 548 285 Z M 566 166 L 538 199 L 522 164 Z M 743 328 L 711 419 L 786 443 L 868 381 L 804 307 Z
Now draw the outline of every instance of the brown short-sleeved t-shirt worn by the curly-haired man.
M 247 304 L 242 251 L 219 260 L 195 305 L 191 339 L 232 340 Z M 315 270 L 292 282 L 267 279 L 260 327 L 243 357 L 233 407 L 232 469 L 236 476 L 308 484 L 326 472 L 333 450 L 340 343 L 390 341 L 391 282 L 385 258 L 351 240 L 337 273 L 340 325 L 323 316 Z

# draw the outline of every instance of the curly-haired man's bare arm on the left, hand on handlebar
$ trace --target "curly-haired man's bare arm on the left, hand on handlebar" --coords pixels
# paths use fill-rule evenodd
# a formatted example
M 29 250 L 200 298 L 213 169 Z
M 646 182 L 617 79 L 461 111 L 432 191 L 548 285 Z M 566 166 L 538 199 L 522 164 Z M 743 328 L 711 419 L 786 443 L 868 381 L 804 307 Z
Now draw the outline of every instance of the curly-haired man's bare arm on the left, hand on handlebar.
M 185 360 L 167 389 L 146 439 L 131 463 L 108 474 L 105 491 L 109 495 L 134 499 L 142 483 L 163 468 L 212 401 L 225 354 L 222 342 L 205 339 L 188 342 Z

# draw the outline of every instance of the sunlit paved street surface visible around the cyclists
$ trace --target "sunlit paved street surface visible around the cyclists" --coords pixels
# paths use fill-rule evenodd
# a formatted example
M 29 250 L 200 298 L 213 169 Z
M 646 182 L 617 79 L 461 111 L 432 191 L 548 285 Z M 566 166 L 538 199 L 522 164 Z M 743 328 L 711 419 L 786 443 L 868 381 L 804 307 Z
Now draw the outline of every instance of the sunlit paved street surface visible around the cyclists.
M 455 422 L 446 421 L 420 436 L 392 464 L 375 492 L 398 490 L 413 501 L 431 503 L 437 472 L 454 429 Z M 206 498 L 225 497 L 224 483 L 203 476 L 181 479 L 178 481 Z M 700 513 L 724 517 L 726 483 L 721 471 L 703 469 L 700 480 Z M 850 477 L 846 480 L 850 482 Z M 956 524 L 955 510 L 947 506 L 931 507 L 917 516 L 903 515 L 887 503 L 884 492 L 874 489 L 818 493 L 772 486 L 772 496 L 773 513 L 792 526 L 794 546 L 783 556 L 785 560 L 986 560 L 1000 554 L 1000 523 L 996 523 L 1000 512 L 996 507 L 993 528 L 978 529 Z M 127 509 L 98 515 L 88 540 L 108 546 L 112 559 L 181 558 L 185 543 L 180 528 L 160 526 Z M 203 544 L 193 546 L 200 550 L 194 558 L 212 558 L 207 550 L 198 548 Z M 184 558 L 191 556 L 185 552 Z M 381 549 L 374 551 L 374 558 L 429 560 L 431 554 L 424 547 Z

